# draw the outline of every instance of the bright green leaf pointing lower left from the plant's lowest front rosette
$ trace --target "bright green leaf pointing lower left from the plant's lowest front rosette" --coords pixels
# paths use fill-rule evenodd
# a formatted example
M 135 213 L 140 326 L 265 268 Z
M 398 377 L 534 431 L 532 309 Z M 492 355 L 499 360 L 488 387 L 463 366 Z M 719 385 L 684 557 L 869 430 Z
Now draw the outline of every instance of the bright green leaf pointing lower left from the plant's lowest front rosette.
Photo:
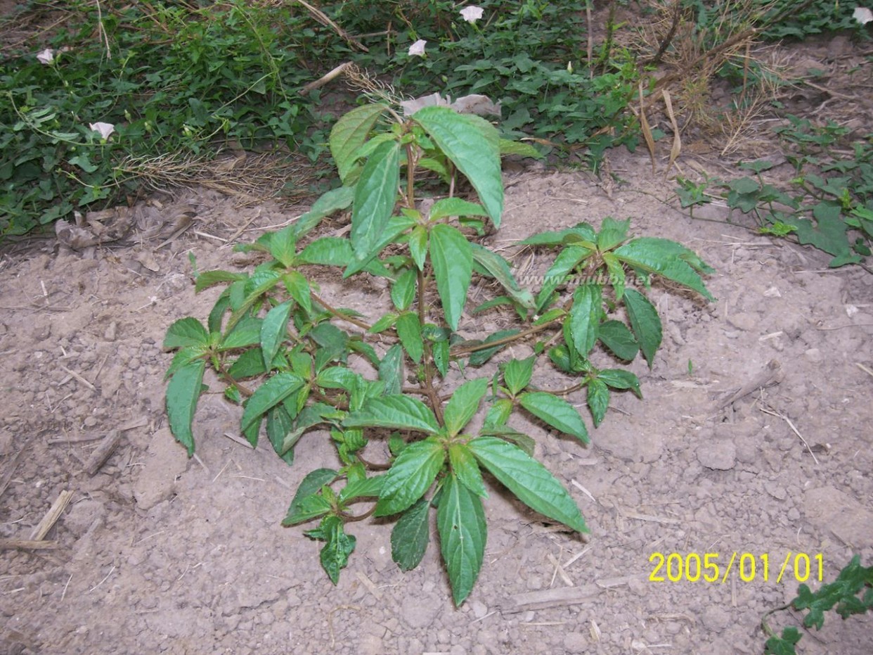
M 436 439 L 416 441 L 403 449 L 385 474 L 375 516 L 399 514 L 420 499 L 445 462 L 443 445 Z

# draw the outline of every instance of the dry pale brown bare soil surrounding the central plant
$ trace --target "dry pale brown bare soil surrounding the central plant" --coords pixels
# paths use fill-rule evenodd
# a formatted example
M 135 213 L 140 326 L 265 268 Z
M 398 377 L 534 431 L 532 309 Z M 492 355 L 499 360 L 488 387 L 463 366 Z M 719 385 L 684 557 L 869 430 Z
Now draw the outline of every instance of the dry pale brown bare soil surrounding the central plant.
M 853 554 L 873 563 L 873 275 L 828 269 L 821 252 L 727 223 L 718 207 L 692 220 L 668 202 L 663 162 L 654 175 L 642 154 L 611 163 L 621 182 L 608 187 L 584 172 L 507 174 L 491 243 L 524 267 L 513 244 L 534 231 L 631 217 L 637 234 L 711 264 L 718 300 L 656 286 L 665 336 L 654 368 L 636 366 L 645 399 L 616 397 L 588 449 L 528 426 L 592 532 L 556 530 L 492 486 L 485 565 L 460 609 L 434 544 L 403 573 L 390 525 L 358 524 L 333 587 L 318 544 L 279 526 L 303 475 L 336 465 L 327 434 L 304 438 L 288 467 L 269 445 L 224 436 L 238 410 L 219 395 L 198 411 L 196 459 L 168 432 L 163 335 L 214 300 L 195 295 L 189 254 L 201 270 L 232 267 L 231 243 L 302 208 L 191 192 L 180 202 L 194 227 L 162 247 L 144 232 L 78 251 L 53 238 L 5 247 L 0 539 L 33 539 L 72 497 L 45 535 L 56 548 L 4 542 L 0 652 L 763 652 L 760 618 L 795 596 L 806 558 L 813 589 L 819 562 L 825 582 Z M 179 206 L 165 205 L 168 221 Z M 120 445 L 89 475 L 113 430 Z M 719 578 L 670 582 L 659 553 L 717 553 Z M 801 652 L 873 652 L 873 617 L 828 617 Z

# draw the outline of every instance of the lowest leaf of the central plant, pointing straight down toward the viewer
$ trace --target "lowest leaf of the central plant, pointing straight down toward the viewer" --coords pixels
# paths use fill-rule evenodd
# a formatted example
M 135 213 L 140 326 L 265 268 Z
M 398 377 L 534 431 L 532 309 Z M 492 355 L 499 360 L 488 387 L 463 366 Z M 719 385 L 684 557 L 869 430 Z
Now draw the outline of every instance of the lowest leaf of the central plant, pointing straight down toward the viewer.
M 436 529 L 440 551 L 449 572 L 451 596 L 456 605 L 464 603 L 476 583 L 485 556 L 485 510 L 482 500 L 454 475 L 443 483 L 436 508 Z

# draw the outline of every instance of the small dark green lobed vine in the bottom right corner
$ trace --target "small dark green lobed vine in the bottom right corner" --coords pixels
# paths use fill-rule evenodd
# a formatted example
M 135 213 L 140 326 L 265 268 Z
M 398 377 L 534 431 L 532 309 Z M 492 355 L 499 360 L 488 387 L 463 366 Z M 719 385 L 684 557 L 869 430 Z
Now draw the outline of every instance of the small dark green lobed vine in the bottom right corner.
M 863 592 L 863 593 L 862 593 Z M 834 610 L 843 620 L 853 614 L 864 614 L 873 610 L 873 567 L 861 566 L 861 556 L 855 555 L 836 576 L 833 583 L 821 586 L 818 591 L 812 591 L 806 584 L 801 584 L 797 597 L 791 603 L 768 611 L 761 619 L 761 628 L 768 636 L 765 644 L 765 655 L 796 655 L 794 646 L 801 640 L 801 632 L 794 626 L 782 630 L 777 636 L 767 617 L 774 612 L 794 608 L 807 614 L 803 617 L 803 627 L 821 630 L 824 625 L 825 612 Z

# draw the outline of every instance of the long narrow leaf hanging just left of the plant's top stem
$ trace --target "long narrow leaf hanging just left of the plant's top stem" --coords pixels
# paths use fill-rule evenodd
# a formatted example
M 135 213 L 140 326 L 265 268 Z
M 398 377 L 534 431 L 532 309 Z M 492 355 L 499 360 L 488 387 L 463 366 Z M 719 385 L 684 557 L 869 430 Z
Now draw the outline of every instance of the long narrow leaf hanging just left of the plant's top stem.
M 370 155 L 354 189 L 352 249 L 361 260 L 382 239 L 397 199 L 400 183 L 400 143 L 382 143 Z

